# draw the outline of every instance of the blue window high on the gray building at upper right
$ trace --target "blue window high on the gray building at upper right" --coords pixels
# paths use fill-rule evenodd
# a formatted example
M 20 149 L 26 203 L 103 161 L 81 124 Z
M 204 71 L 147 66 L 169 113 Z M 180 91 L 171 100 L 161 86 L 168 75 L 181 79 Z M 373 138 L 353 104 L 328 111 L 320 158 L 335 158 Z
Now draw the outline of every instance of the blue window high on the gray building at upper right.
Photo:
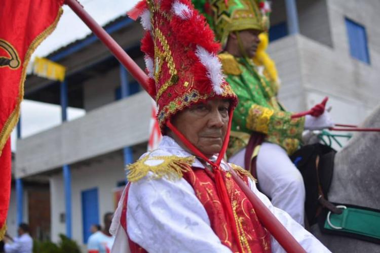
M 370 64 L 365 27 L 346 18 L 347 35 L 352 57 Z

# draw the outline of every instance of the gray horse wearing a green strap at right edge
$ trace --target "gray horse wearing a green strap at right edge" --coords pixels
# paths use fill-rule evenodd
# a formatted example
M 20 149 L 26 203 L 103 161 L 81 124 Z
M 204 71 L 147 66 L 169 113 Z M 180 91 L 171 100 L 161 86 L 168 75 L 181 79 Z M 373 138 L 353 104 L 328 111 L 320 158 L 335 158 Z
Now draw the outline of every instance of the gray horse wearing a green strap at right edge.
M 380 127 L 380 106 L 361 126 Z M 356 132 L 347 145 L 336 153 L 329 201 L 380 209 L 379 147 L 379 132 Z M 323 234 L 318 224 L 311 227 L 311 232 L 333 252 L 380 252 L 379 244 Z

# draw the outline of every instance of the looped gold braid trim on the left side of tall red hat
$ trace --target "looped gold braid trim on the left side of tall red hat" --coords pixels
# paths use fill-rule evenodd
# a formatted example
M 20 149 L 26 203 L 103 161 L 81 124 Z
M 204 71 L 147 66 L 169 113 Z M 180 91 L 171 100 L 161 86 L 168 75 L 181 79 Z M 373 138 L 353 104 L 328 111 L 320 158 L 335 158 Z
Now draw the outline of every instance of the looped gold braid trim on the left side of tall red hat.
M 159 98 L 161 97 L 161 95 L 170 86 L 174 85 L 178 81 L 178 76 L 177 76 L 177 70 L 175 69 L 173 57 L 172 57 L 171 52 L 170 52 L 168 41 L 166 40 L 164 34 L 162 34 L 160 29 L 156 28 L 155 33 L 156 33 L 156 37 L 159 39 L 159 41 L 160 41 L 160 43 L 164 49 L 164 52 L 161 52 L 157 46 L 155 47 L 155 53 L 157 54 L 156 62 L 155 62 L 155 79 L 156 79 L 156 82 L 158 81 L 159 75 L 161 73 L 161 67 L 162 67 L 162 64 L 164 61 L 167 62 L 169 73 L 170 73 L 170 78 L 164 83 L 164 85 L 157 92 L 156 101 L 158 101 Z M 158 65 L 156 65 L 156 63 Z

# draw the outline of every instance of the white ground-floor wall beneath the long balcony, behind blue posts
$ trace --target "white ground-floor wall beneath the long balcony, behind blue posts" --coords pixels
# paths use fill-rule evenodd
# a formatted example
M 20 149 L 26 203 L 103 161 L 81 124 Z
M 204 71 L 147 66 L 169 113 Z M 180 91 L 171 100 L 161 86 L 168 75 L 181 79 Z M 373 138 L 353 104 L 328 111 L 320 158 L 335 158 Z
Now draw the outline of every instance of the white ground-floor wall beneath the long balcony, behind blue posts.
M 103 226 L 103 215 L 114 211 L 113 189 L 125 179 L 124 157 L 122 152 L 114 152 L 93 160 L 72 165 L 71 206 L 72 238 L 83 244 L 82 191 L 98 188 L 99 223 Z M 64 185 L 62 173 L 50 180 L 52 206 L 52 241 L 58 241 L 58 234 L 65 234 L 65 223 L 59 222 L 59 214 L 65 213 Z

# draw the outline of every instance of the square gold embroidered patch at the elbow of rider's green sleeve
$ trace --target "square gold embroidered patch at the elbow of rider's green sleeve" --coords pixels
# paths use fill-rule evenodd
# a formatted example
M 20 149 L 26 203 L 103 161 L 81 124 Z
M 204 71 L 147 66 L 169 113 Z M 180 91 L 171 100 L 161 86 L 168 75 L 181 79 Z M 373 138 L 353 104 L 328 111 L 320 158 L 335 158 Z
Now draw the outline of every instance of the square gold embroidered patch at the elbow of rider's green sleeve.
M 248 111 L 247 128 L 260 133 L 268 134 L 268 125 L 274 111 L 259 105 L 252 105 Z

